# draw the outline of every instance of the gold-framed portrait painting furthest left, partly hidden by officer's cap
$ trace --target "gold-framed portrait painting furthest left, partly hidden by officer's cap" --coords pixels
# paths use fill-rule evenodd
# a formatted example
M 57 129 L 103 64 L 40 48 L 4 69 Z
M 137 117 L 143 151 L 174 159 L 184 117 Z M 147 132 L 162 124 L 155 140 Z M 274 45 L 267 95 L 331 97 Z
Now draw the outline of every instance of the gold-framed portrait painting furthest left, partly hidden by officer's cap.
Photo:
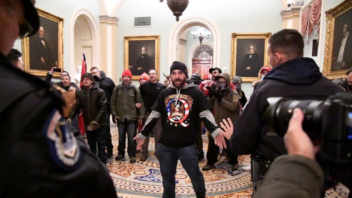
M 35 35 L 22 39 L 22 52 L 25 71 L 45 76 L 54 66 L 63 71 L 64 20 L 40 9 L 37 11 L 40 28 Z M 53 76 L 60 77 L 60 72 L 54 72 Z

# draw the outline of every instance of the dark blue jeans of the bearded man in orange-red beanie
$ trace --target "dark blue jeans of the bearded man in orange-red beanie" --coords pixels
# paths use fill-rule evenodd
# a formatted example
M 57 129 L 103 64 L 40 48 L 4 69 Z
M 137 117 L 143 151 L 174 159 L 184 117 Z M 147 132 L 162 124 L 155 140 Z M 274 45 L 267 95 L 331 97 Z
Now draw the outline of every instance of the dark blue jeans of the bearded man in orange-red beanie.
M 137 121 L 125 121 L 117 122 L 117 128 L 119 129 L 119 146 L 117 151 L 119 155 L 125 156 L 126 149 L 126 132 L 128 138 L 127 153 L 130 157 L 136 156 L 137 142 L 133 138 L 137 135 Z

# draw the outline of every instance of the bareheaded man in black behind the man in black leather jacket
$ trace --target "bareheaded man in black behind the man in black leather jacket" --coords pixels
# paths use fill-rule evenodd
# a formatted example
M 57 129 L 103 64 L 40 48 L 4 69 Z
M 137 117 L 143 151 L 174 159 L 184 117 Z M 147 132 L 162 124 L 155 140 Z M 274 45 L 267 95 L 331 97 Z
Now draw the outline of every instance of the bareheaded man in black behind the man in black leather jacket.
M 113 156 L 113 143 L 111 140 L 111 133 L 110 133 L 110 98 L 113 94 L 115 83 L 114 81 L 106 77 L 104 71 L 100 71 L 97 67 L 91 68 L 91 74 L 95 78 L 97 82 L 99 82 L 99 88 L 103 89 L 106 97 L 107 97 L 107 112 L 106 112 L 106 125 L 105 125 L 105 140 L 106 140 L 106 150 L 107 150 L 107 157 L 110 158 Z

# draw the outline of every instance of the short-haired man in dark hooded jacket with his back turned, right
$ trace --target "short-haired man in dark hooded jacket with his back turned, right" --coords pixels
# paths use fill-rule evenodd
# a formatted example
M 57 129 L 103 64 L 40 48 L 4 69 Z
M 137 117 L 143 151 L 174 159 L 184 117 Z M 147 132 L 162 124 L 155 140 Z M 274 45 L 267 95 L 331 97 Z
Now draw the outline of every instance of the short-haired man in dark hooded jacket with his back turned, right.
M 282 137 L 266 135 L 268 125 L 263 120 L 263 114 L 269 105 L 268 97 L 325 100 L 342 90 L 322 76 L 313 59 L 303 57 L 303 48 L 303 37 L 297 30 L 284 29 L 269 39 L 268 54 L 273 70 L 250 96 L 246 108 L 234 124 L 232 136 L 225 134 L 235 154 L 256 151 L 252 157 L 259 156 L 258 160 L 265 166 L 287 153 Z

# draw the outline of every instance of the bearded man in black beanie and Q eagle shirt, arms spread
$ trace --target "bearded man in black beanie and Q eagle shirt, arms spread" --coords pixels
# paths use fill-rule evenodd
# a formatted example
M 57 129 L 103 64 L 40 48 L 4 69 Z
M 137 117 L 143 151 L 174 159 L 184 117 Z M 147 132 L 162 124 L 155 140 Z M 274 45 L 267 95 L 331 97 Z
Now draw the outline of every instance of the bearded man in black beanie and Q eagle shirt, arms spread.
M 199 118 L 219 147 L 226 148 L 226 143 L 210 112 L 207 98 L 193 82 L 186 82 L 188 70 L 185 63 L 174 61 L 170 67 L 170 78 L 172 85 L 160 92 L 143 130 L 135 137 L 137 150 L 161 118 L 157 154 L 164 188 L 162 197 L 175 197 L 175 173 L 179 159 L 191 178 L 196 196 L 205 197 L 204 177 L 198 166 Z

